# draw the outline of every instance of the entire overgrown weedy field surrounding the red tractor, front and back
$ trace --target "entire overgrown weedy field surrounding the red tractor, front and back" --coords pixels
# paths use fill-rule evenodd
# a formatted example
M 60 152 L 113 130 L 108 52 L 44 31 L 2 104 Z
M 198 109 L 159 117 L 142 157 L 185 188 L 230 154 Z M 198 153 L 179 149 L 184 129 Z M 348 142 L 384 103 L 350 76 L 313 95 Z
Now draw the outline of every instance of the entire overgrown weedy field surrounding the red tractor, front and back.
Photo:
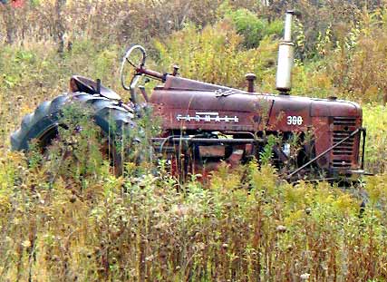
M 157 1 L 70 1 L 63 9 L 73 14 L 66 14 L 63 28 L 71 44 L 61 53 L 57 31 L 50 29 L 61 20 L 52 3 L 32 1 L 13 11 L 34 24 L 15 27 L 12 44 L 0 43 L 0 280 L 387 280 L 382 5 L 370 11 L 346 1 L 323 1 L 319 8 L 293 2 L 306 13 L 295 27 L 293 93 L 336 95 L 363 107 L 366 169 L 376 175 L 341 190 L 325 182 L 291 185 L 269 162 L 256 161 L 233 171 L 223 166 L 206 183 L 197 176 L 179 183 L 163 161 L 128 162 L 125 175 L 116 177 L 95 149 L 92 127 L 73 137 L 74 161 L 58 162 L 53 151 L 39 165 L 38 153 L 9 151 L 10 133 L 22 117 L 65 92 L 72 74 L 101 78 L 128 101 L 118 70 L 133 42 L 148 47 L 149 65 L 160 72 L 178 63 L 184 76 L 238 88 L 246 87 L 244 74 L 253 72 L 259 91 L 275 92 L 285 8 L 276 1 L 261 6 L 203 0 L 190 9 L 180 1 L 162 8 Z M 9 25 L 5 13 L 11 12 L 0 7 Z M 90 16 L 81 16 L 84 11 Z M 144 11 L 152 15 L 146 22 L 140 21 Z M 78 19 L 73 24 L 71 15 Z M 313 21 L 316 16 L 325 24 Z M 90 123 L 82 122 L 84 128 Z M 361 211 L 364 194 L 368 203 Z

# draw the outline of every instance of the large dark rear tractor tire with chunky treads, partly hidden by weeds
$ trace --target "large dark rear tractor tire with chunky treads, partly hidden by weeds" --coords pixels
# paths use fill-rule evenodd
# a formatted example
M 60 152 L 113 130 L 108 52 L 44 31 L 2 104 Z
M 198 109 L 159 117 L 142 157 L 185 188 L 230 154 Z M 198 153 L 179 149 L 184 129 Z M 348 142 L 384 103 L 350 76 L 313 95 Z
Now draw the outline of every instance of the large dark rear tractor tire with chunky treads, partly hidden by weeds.
M 85 92 L 63 94 L 52 101 L 42 102 L 33 113 L 24 116 L 21 127 L 11 135 L 12 150 L 29 151 L 30 143 L 34 140 L 45 149 L 57 135 L 58 127 L 62 125 L 61 115 L 64 107 L 71 103 L 84 107 L 85 112 L 90 112 L 93 122 L 101 128 L 109 141 L 116 141 L 124 132 L 136 127 L 136 123 L 132 122 L 133 114 L 121 107 L 117 101 Z M 113 166 L 121 171 L 121 158 L 118 154 L 113 156 Z

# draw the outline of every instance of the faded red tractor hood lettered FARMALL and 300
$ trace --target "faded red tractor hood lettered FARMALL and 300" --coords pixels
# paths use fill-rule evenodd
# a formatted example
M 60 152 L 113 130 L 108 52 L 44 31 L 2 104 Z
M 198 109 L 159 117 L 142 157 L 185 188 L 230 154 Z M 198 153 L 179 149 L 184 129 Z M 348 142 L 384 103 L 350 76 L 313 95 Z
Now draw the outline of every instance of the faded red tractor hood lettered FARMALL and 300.
M 171 75 L 154 89 L 150 102 L 171 129 L 259 131 L 279 126 L 301 131 L 314 117 L 362 116 L 354 102 L 251 93 Z

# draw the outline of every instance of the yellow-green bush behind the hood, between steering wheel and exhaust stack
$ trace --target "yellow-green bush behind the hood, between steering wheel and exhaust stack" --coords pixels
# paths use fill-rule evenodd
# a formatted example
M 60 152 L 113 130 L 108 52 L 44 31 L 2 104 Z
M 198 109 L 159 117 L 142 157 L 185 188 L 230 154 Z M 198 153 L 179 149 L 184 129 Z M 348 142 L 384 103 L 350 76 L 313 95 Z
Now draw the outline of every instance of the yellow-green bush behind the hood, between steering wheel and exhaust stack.
M 156 42 L 157 63 L 164 70 L 177 63 L 185 77 L 239 88 L 246 87 L 245 73 L 256 73 L 261 89 L 272 87 L 274 83 L 263 84 L 263 78 L 267 73 L 274 77 L 276 43 L 266 38 L 249 50 L 242 43 L 243 38 L 227 20 L 202 31 L 190 24 L 169 39 Z

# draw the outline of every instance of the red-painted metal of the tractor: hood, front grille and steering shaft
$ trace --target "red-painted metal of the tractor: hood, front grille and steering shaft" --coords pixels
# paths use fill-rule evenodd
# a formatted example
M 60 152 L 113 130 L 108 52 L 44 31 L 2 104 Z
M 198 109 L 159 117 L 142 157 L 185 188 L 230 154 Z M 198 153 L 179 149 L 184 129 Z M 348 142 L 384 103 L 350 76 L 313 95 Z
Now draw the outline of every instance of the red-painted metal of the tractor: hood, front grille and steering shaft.
M 360 168 L 360 134 L 330 150 L 335 143 L 362 127 L 362 110 L 354 102 L 251 93 L 143 68 L 137 71 L 165 82 L 150 96 L 164 136 L 170 131 L 309 132 L 313 136 L 314 155 L 327 151 L 315 162 L 329 175 L 339 172 L 348 175 L 351 170 Z M 302 122 L 289 122 L 289 117 Z M 241 150 L 236 148 L 234 146 L 225 159 L 230 165 L 240 162 L 247 154 L 246 144 Z M 208 163 L 207 170 L 216 167 L 218 164 Z

